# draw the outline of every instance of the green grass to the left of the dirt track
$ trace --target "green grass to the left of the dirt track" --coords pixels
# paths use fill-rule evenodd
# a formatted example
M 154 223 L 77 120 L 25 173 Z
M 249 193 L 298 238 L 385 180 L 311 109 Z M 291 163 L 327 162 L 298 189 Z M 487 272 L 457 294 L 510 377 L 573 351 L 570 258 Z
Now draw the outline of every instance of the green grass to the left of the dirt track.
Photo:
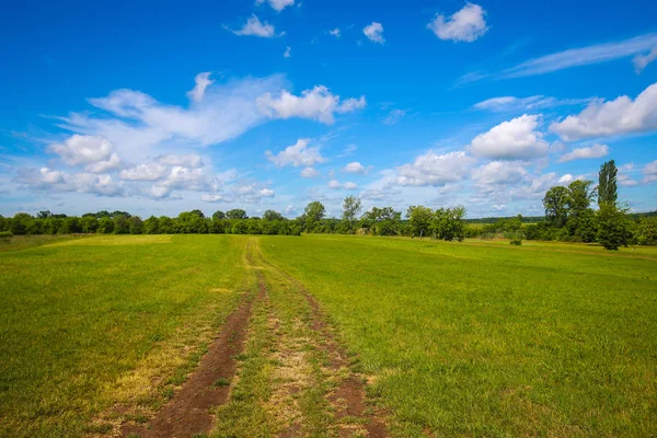
M 148 416 L 234 308 L 245 238 L 97 237 L 0 254 L 0 436 Z M 131 414 L 132 415 L 132 414 Z

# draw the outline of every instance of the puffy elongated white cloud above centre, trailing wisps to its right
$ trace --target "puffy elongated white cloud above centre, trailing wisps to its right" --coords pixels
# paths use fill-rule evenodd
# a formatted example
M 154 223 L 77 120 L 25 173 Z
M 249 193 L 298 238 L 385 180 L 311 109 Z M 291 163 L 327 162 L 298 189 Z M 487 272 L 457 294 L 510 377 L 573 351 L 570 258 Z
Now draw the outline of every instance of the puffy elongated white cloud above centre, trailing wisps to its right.
M 366 106 L 365 96 L 347 99 L 341 103 L 324 85 L 304 90 L 301 96 L 296 96 L 284 90 L 278 96 L 266 93 L 257 99 L 257 107 L 269 118 L 302 117 L 332 124 L 334 113 L 349 113 Z

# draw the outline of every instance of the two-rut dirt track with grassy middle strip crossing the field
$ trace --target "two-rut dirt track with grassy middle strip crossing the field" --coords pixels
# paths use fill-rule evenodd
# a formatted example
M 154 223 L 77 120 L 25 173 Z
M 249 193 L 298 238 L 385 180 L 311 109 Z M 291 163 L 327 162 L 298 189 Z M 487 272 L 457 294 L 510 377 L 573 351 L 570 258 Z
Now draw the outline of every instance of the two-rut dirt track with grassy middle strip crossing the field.
M 197 368 L 150 422 L 124 424 L 120 436 L 388 437 L 382 411 L 367 403 L 365 379 L 351 369 L 318 301 L 265 260 L 256 239 L 247 241 L 244 260 L 257 279 L 257 297 L 244 297 Z M 242 373 L 249 360 L 266 364 L 261 369 L 266 395 L 256 394 L 255 381 L 247 380 L 253 377 Z M 230 384 L 218 387 L 218 381 Z M 257 413 L 244 411 L 245 393 Z M 247 431 L 251 420 L 260 428 Z

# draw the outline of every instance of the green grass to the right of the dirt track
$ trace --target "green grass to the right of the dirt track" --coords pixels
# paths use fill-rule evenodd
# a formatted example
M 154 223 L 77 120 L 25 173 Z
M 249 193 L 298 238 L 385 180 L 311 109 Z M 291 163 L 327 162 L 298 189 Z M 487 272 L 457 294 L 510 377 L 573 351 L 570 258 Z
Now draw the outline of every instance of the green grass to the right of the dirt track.
M 263 237 L 397 436 L 657 434 L 657 251 Z

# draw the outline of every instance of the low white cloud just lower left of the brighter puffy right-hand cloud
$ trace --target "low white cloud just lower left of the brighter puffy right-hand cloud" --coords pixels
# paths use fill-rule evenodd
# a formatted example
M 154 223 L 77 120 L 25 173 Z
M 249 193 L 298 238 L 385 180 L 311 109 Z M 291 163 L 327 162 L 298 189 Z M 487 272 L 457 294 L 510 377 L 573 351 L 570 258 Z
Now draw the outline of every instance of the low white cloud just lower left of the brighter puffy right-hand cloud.
M 442 155 L 428 151 L 417 157 L 413 163 L 396 168 L 396 176 L 391 183 L 402 186 L 441 186 L 465 178 L 473 163 L 474 159 L 463 151 Z

